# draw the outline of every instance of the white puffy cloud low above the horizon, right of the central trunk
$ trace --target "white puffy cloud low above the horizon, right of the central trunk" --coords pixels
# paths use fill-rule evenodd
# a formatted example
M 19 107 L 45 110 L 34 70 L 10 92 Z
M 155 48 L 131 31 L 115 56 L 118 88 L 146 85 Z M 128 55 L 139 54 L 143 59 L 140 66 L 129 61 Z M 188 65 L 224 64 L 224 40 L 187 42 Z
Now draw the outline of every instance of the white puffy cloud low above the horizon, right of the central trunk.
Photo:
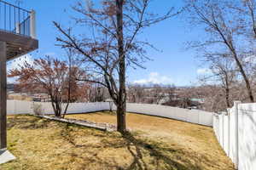
M 143 78 L 136 80 L 133 83 L 137 84 L 172 84 L 172 79 L 170 77 L 161 76 L 158 72 L 151 72 L 148 78 Z

